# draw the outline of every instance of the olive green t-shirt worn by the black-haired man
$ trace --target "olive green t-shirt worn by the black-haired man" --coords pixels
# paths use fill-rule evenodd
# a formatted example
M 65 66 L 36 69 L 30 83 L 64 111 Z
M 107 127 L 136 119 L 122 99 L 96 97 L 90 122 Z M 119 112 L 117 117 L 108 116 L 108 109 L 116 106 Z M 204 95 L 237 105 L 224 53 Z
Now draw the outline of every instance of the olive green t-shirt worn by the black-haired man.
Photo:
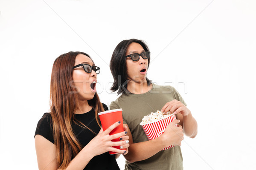
M 163 106 L 174 99 L 186 103 L 172 86 L 153 84 L 144 94 L 122 94 L 111 102 L 110 109 L 122 108 L 123 123 L 128 124 L 134 143 L 148 141 L 140 122 L 145 115 L 161 111 Z M 150 149 L 150 148 L 148 148 Z M 143 161 L 129 163 L 125 161 L 125 170 L 183 170 L 183 158 L 180 146 L 162 150 Z

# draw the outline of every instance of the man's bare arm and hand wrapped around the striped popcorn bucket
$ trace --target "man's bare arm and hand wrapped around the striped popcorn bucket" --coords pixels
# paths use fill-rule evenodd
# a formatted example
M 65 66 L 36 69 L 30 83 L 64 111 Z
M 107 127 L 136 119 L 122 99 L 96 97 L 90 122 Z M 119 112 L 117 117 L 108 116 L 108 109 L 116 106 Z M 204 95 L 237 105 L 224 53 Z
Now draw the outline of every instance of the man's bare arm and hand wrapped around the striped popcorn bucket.
M 181 141 L 184 139 L 182 127 L 176 127 L 175 124 L 179 120 L 174 120 L 167 127 L 163 135 L 159 136 L 156 139 L 134 143 L 131 135 L 131 131 L 128 127 L 128 136 L 129 136 L 129 153 L 125 155 L 125 159 L 129 162 L 141 161 L 148 159 L 154 154 L 158 153 L 164 147 L 170 145 L 180 145 Z M 125 124 L 128 126 L 127 124 Z M 150 149 L 148 149 L 150 148 Z

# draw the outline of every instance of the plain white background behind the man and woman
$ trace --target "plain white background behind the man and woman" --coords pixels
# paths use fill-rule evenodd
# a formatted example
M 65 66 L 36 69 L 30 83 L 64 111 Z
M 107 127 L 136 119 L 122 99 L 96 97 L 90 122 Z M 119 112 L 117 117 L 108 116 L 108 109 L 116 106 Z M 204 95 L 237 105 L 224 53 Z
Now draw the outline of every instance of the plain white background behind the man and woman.
M 184 169 L 256 169 L 255 0 L 0 0 L 0 11 L 1 170 L 37 169 L 34 133 L 55 58 L 88 53 L 109 104 L 111 55 L 130 38 L 150 48 L 148 78 L 177 88 L 198 122 L 182 143 Z

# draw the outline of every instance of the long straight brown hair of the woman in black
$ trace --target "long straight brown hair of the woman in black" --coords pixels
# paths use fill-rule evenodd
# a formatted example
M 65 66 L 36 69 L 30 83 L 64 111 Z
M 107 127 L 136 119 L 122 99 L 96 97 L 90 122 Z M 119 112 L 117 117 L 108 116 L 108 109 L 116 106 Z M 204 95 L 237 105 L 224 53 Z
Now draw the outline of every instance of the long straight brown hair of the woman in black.
M 52 66 L 52 77 L 50 86 L 50 114 L 52 116 L 53 138 L 56 146 L 56 159 L 58 168 L 65 169 L 72 157 L 75 157 L 82 149 L 81 144 L 73 133 L 71 122 L 74 120 L 74 113 L 78 108 L 78 95 L 73 85 L 72 73 L 76 56 L 83 52 L 70 51 L 55 59 Z M 95 110 L 95 118 L 99 123 L 98 112 L 104 111 L 99 96 L 95 93 L 88 104 Z M 84 128 L 88 128 L 80 122 Z M 89 128 L 88 128 L 89 129 Z M 89 129 L 90 130 L 90 129 Z

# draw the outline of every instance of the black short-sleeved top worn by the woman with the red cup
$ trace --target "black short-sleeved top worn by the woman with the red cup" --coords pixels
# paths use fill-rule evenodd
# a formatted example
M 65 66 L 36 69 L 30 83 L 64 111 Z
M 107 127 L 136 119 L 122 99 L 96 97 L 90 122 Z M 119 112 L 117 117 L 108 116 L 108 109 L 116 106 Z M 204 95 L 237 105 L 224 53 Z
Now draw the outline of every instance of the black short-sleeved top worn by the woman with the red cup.
M 103 104 L 105 111 L 108 107 Z M 89 127 L 96 134 L 99 133 L 100 127 L 95 119 L 94 109 L 87 113 L 75 114 L 75 119 L 82 122 L 84 125 Z M 73 132 L 76 138 L 79 140 L 82 147 L 87 145 L 96 135 L 90 130 L 80 127 L 75 123 L 71 124 Z M 52 129 L 52 117 L 50 113 L 44 113 L 43 117 L 38 121 L 38 125 L 35 130 L 35 135 L 44 136 L 47 140 L 53 143 L 53 129 Z M 94 156 L 93 159 L 89 161 L 84 170 L 120 170 L 115 159 L 115 155 L 110 155 L 108 152 L 103 153 L 98 156 Z

